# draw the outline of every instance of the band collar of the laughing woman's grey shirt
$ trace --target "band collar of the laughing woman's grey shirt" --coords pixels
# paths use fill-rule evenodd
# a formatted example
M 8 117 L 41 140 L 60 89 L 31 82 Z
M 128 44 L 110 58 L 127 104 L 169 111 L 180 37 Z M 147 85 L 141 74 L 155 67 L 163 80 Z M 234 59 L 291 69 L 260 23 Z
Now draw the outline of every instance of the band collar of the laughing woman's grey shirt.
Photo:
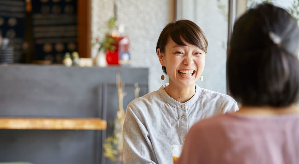
M 193 95 L 193 97 L 186 101 L 185 103 L 180 103 L 179 101 L 173 99 L 172 97 L 170 97 L 167 92 L 165 91 L 165 87 L 168 86 L 169 83 L 165 83 L 163 84 L 160 89 L 158 89 L 158 93 L 159 95 L 163 98 L 164 101 L 166 101 L 166 103 L 168 103 L 169 105 L 178 108 L 178 109 L 186 109 L 189 108 L 190 106 L 192 106 L 194 103 L 196 103 L 196 101 L 199 99 L 199 96 L 202 92 L 202 89 L 195 84 L 195 94 Z

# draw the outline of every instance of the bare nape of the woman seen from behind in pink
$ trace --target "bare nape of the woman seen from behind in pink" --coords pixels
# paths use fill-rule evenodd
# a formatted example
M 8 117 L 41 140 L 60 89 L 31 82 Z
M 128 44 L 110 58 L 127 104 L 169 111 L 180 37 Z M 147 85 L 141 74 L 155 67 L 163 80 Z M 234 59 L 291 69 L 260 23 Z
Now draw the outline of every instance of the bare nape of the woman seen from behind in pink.
M 299 107 L 295 104 L 285 107 L 271 107 L 271 106 L 242 106 L 237 113 L 244 115 L 260 115 L 260 116 L 271 116 L 271 115 L 284 115 L 299 113 Z

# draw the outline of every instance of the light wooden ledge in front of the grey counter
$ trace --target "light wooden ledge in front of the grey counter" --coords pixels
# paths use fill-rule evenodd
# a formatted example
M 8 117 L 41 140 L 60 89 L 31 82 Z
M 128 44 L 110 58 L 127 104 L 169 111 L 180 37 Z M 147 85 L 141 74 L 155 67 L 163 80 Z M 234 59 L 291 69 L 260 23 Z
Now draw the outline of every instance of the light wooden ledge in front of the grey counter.
M 0 117 L 0 129 L 105 130 L 99 118 L 11 118 Z

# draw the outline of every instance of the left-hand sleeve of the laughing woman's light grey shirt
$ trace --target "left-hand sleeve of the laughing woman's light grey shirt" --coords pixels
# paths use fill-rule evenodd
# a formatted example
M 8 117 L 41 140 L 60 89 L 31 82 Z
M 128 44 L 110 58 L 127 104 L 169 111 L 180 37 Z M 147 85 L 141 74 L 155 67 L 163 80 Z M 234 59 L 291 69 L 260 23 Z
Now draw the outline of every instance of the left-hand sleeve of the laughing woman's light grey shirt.
M 155 164 L 156 157 L 149 138 L 149 132 L 140 118 L 128 106 L 123 123 L 124 164 Z

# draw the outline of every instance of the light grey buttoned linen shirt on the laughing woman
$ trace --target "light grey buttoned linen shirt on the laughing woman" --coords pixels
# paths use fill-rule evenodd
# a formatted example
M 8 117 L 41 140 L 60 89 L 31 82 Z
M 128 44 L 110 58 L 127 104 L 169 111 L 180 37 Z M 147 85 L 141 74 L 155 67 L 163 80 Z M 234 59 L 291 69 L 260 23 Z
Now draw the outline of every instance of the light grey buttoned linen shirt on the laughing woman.
M 194 123 L 238 110 L 233 98 L 196 84 L 194 96 L 180 103 L 165 92 L 167 85 L 127 106 L 123 124 L 124 164 L 171 164 L 172 145 L 182 145 Z

